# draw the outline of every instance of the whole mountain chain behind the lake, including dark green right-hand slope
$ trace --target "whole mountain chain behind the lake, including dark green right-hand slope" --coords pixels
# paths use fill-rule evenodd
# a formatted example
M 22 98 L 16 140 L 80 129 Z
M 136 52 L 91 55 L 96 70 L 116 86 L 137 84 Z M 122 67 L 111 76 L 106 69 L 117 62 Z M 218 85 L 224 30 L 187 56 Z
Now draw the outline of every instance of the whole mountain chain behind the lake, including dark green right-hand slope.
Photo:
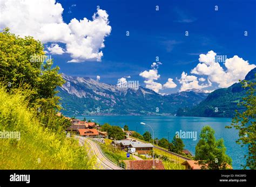
M 256 68 L 245 77 L 255 81 Z M 197 89 L 160 95 L 151 89 L 119 88 L 89 77 L 62 74 L 66 83 L 59 87 L 58 96 L 67 116 L 89 115 L 177 115 L 196 117 L 233 117 L 246 88 L 234 83 L 228 88 L 205 93 Z

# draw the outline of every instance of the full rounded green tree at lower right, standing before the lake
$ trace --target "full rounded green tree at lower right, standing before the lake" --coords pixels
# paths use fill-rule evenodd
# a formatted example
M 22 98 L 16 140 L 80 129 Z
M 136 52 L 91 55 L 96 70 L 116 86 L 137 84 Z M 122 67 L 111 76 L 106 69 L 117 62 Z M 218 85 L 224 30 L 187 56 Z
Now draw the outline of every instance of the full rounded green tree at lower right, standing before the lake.
M 232 163 L 231 158 L 225 153 L 224 140 L 215 140 L 214 133 L 210 126 L 204 126 L 201 130 L 195 160 L 202 165 L 202 169 L 226 169 L 227 164 Z

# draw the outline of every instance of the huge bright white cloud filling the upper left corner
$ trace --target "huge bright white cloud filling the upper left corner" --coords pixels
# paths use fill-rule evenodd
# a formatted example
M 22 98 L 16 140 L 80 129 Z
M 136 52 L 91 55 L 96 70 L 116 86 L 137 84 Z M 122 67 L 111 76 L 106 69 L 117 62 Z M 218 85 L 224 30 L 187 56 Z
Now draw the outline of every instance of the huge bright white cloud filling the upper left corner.
M 0 28 L 9 27 L 12 33 L 30 35 L 43 43 L 61 42 L 70 62 L 101 61 L 105 37 L 111 32 L 109 15 L 98 9 L 92 20 L 73 18 L 65 23 L 63 8 L 55 0 L 1 0 Z

